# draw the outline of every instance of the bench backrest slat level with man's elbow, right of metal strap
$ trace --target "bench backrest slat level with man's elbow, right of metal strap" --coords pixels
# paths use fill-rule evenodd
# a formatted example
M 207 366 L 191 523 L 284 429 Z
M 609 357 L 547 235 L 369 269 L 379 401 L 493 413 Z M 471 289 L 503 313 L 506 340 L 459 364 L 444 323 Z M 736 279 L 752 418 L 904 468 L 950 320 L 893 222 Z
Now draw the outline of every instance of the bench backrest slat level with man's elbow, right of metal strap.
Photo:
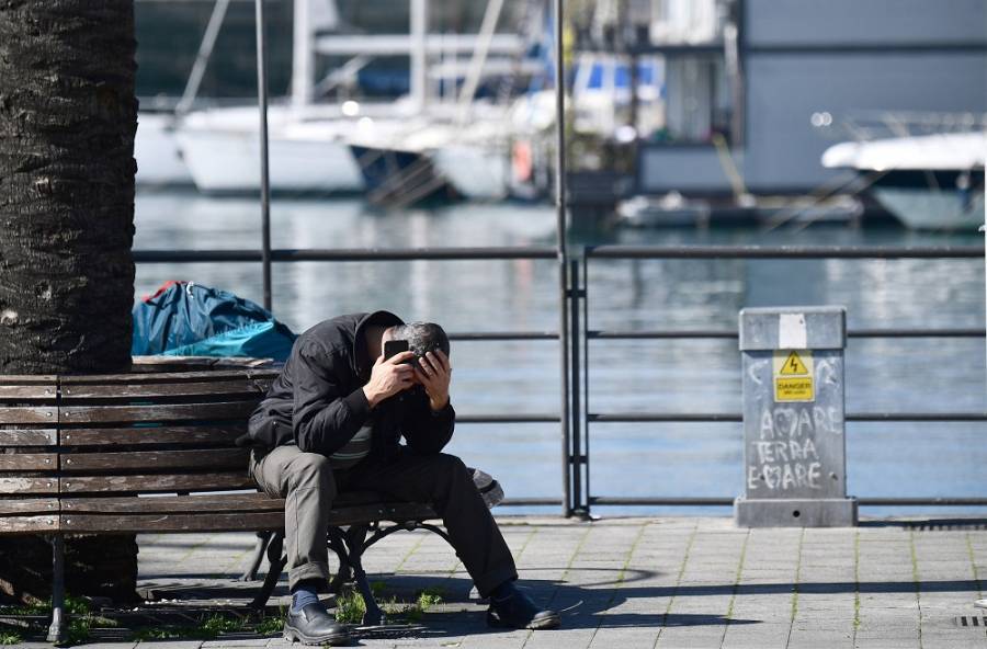
M 63 423 L 129 423 L 136 421 L 216 421 L 243 419 L 253 412 L 257 399 L 215 403 L 168 406 L 70 406 L 60 409 Z

